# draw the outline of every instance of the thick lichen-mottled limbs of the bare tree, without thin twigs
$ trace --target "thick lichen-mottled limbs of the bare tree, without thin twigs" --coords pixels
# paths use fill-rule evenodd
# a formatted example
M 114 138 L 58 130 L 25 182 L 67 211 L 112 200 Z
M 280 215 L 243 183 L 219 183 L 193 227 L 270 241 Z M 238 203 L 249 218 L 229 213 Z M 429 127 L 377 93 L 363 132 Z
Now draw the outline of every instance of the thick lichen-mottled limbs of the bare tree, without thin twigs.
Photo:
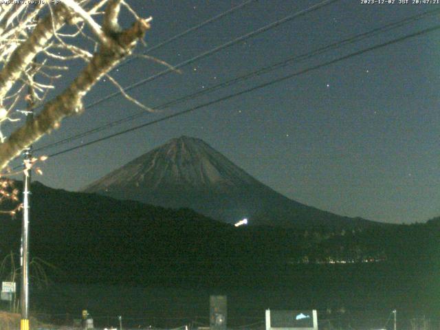
M 47 102 L 34 120 L 26 122 L 20 129 L 14 131 L 8 140 L 0 144 L 0 170 L 7 166 L 10 159 L 19 155 L 23 148 L 39 140 L 45 133 L 58 128 L 63 118 L 83 111 L 83 97 L 91 87 L 120 63 L 122 58 L 131 54 L 137 41 L 143 39 L 151 18 L 139 19 L 131 28 L 120 31 L 117 15 L 119 9 L 120 0 L 108 1 L 102 31 L 111 42 L 100 43 L 99 50 L 94 53 L 87 67 L 72 84 L 63 93 Z M 34 55 L 41 52 L 49 39 L 54 36 L 54 30 L 61 28 L 65 15 L 69 15 L 65 8 L 57 6 L 53 18 L 39 22 L 30 39 L 17 48 L 12 55 L 17 63 L 8 63 L 0 72 L 0 100 L 12 87 L 14 80 L 19 78 L 26 65 L 32 62 Z

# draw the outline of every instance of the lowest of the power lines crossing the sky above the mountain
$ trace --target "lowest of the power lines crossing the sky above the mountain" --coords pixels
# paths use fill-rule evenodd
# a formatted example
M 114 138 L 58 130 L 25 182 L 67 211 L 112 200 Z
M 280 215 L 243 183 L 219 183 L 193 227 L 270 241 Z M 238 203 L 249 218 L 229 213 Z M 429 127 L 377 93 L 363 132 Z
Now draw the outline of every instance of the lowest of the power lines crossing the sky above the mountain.
M 328 65 L 332 65 L 332 64 L 335 64 L 335 63 L 338 63 L 338 62 L 341 62 L 341 61 L 347 60 L 348 58 L 352 58 L 352 57 L 354 57 L 354 56 L 358 56 L 358 55 L 364 54 L 364 53 L 366 53 L 366 52 L 372 52 L 373 50 L 378 50 L 378 49 L 380 49 L 380 48 L 382 48 L 382 47 L 386 47 L 386 46 L 388 46 L 388 45 L 393 45 L 393 44 L 395 44 L 395 43 L 399 43 L 399 42 L 401 42 L 401 41 L 406 41 L 407 39 L 415 38 L 416 36 L 421 36 L 421 35 L 423 35 L 423 34 L 427 34 L 427 33 L 429 33 L 429 32 L 434 32 L 434 31 L 437 31 L 437 30 L 440 30 L 440 25 L 435 25 L 435 26 L 432 27 L 432 28 L 427 28 L 427 29 L 424 29 L 424 30 L 421 30 L 421 31 L 419 31 L 419 32 L 415 32 L 415 33 L 412 33 L 412 34 L 407 34 L 406 36 L 401 36 L 400 38 L 393 39 L 393 40 L 391 40 L 391 41 L 387 41 L 386 43 L 381 43 L 381 44 L 379 44 L 379 45 L 374 45 L 374 46 L 368 47 L 368 48 L 366 48 L 366 49 L 364 49 L 364 50 L 360 50 L 360 51 L 358 51 L 358 52 L 353 52 L 353 53 L 351 53 L 351 54 L 348 54 L 348 55 L 345 55 L 345 56 L 341 56 L 340 58 L 336 58 L 336 59 L 334 59 L 334 60 L 331 60 L 331 61 L 328 61 L 328 62 L 325 62 L 325 63 L 321 63 L 321 64 L 315 65 L 315 66 L 313 66 L 313 67 L 309 67 L 309 68 L 307 68 L 307 69 L 300 70 L 300 71 L 298 71 L 298 72 L 294 72 L 293 74 L 289 74 L 289 75 L 287 75 L 287 76 L 283 76 L 283 77 L 281 77 L 281 78 L 277 78 L 277 79 L 274 79 L 274 80 L 270 80 L 270 81 L 267 82 L 267 83 L 263 83 L 263 84 L 261 84 L 261 85 L 256 85 L 256 86 L 251 87 L 251 88 L 249 88 L 249 89 L 245 89 L 245 90 L 243 90 L 243 91 L 239 91 L 239 92 L 237 92 L 237 93 L 230 94 L 230 95 L 228 95 L 228 96 L 224 96 L 224 97 L 222 97 L 222 98 L 217 98 L 216 100 L 212 100 L 212 101 L 210 101 L 210 102 L 206 102 L 206 103 L 203 103 L 203 104 L 199 104 L 199 105 L 197 105 L 197 106 L 195 106 L 195 107 L 191 107 L 191 108 L 186 109 L 186 110 L 184 110 L 184 111 L 179 111 L 179 112 L 177 112 L 177 113 L 173 113 L 172 115 L 167 115 L 167 116 L 165 116 L 165 117 L 163 117 L 163 118 L 159 118 L 159 119 L 157 119 L 157 120 L 153 120 L 153 121 L 151 121 L 151 122 L 146 122 L 146 123 L 144 123 L 144 124 L 141 124 L 141 125 L 138 125 L 138 126 L 134 126 L 134 127 L 131 127 L 130 129 L 125 129 L 124 131 L 120 131 L 120 132 L 118 132 L 118 133 L 113 133 L 113 134 L 111 134 L 111 135 L 107 135 L 107 136 L 105 136 L 105 137 L 101 137 L 101 138 L 99 138 L 99 139 L 96 139 L 96 140 L 93 140 L 93 141 L 87 142 L 87 143 L 85 143 L 85 144 L 80 144 L 80 145 L 78 145 L 78 146 L 74 146 L 74 147 L 72 147 L 72 148 L 67 148 L 67 149 L 65 149 L 65 150 L 63 150 L 63 151 L 58 151 L 57 153 L 53 153 L 52 155 L 50 155 L 50 157 L 55 157 L 55 156 L 57 156 L 57 155 L 62 155 L 63 153 L 68 153 L 68 152 L 70 152 L 70 151 L 74 151 L 74 150 L 76 150 L 76 149 L 78 149 L 78 148 L 83 148 L 83 147 L 85 147 L 85 146 L 89 146 L 89 145 L 91 145 L 91 144 L 95 144 L 95 143 L 98 143 L 98 142 L 101 142 L 101 141 L 104 141 L 104 140 L 108 140 L 108 139 L 110 139 L 111 137 L 115 137 L 115 136 L 118 136 L 118 135 L 122 135 L 122 134 L 125 134 L 125 133 L 129 133 L 129 132 L 131 132 L 131 131 L 135 131 L 135 130 L 137 130 L 137 129 L 141 129 L 141 128 L 146 127 L 146 126 L 151 126 L 152 124 L 156 124 L 157 122 L 163 122 L 163 121 L 165 121 L 165 120 L 168 120 L 168 119 L 171 119 L 171 118 L 175 118 L 175 117 L 177 117 L 177 116 L 179 116 L 179 115 L 184 115 L 184 114 L 186 114 L 186 113 L 190 113 L 190 112 L 195 111 L 195 110 L 197 110 L 197 109 L 201 109 L 201 108 L 203 108 L 203 107 L 208 107 L 208 106 L 210 106 L 210 105 L 212 105 L 212 104 L 216 104 L 216 103 L 219 103 L 219 102 L 223 102 L 223 101 L 225 101 L 225 100 L 229 100 L 229 99 L 231 99 L 231 98 L 235 98 L 236 96 L 241 96 L 241 95 L 243 95 L 243 94 L 250 93 L 251 91 L 255 91 L 255 90 L 257 90 L 257 89 L 261 89 L 261 88 L 264 88 L 264 87 L 267 87 L 267 86 L 270 86 L 270 85 L 274 85 L 274 84 L 276 84 L 276 83 L 280 83 L 281 81 L 284 81 L 284 80 L 287 80 L 287 79 L 290 79 L 290 78 L 294 78 L 295 76 L 300 76 L 300 75 L 302 75 L 302 74 L 306 74 L 307 72 L 311 72 L 311 71 L 314 71 L 314 70 L 320 69 L 320 68 L 322 68 L 322 67 L 326 67 L 326 66 L 328 66 Z

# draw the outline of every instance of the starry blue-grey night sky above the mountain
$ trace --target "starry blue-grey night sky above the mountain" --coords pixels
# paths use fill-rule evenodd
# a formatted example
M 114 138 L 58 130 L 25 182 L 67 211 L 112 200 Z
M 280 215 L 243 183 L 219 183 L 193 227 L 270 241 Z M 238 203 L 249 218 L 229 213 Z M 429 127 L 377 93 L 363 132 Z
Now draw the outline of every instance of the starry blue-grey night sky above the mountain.
M 152 16 L 147 47 L 157 45 L 243 1 L 129 0 Z M 192 56 L 283 19 L 317 0 L 252 1 L 149 55 L 177 65 Z M 130 91 L 155 107 L 261 67 L 399 21 L 440 4 L 361 4 L 340 0 L 232 45 Z M 412 0 L 410 0 L 412 2 Z M 124 23 L 129 24 L 127 16 Z M 358 50 L 437 25 L 439 15 L 307 58 L 225 89 L 146 113 L 135 121 L 47 148 L 51 154 L 188 109 Z M 199 137 L 283 195 L 322 210 L 391 223 L 440 215 L 440 32 L 348 58 L 144 129 L 47 159 L 47 186 L 78 190 L 173 137 Z M 148 49 L 148 48 L 147 48 Z M 144 52 L 142 47 L 137 53 Z M 80 63 L 72 66 L 80 67 Z M 137 58 L 112 73 L 131 85 L 166 67 Z M 58 91 L 74 77 L 58 84 Z M 116 91 L 102 81 L 85 104 Z M 121 96 L 65 120 L 35 147 L 143 111 Z M 13 164 L 18 164 L 14 162 Z

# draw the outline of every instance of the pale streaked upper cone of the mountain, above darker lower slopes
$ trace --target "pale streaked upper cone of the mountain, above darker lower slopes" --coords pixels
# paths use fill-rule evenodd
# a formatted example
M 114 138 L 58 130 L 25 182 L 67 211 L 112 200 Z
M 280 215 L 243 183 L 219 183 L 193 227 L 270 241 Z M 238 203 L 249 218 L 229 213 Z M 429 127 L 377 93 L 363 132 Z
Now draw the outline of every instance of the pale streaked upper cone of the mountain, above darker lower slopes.
M 156 190 L 221 190 L 258 182 L 209 144 L 182 135 L 168 140 L 85 188 L 87 192 L 130 186 Z

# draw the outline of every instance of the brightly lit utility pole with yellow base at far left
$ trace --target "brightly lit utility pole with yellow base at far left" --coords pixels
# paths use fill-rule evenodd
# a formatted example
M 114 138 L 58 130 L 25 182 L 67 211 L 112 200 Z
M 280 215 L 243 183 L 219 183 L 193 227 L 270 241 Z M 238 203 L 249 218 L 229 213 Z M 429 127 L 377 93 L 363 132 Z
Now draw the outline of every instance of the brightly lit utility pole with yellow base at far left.
M 33 78 L 33 77 L 32 77 Z M 28 87 L 28 110 L 26 122 L 34 119 L 34 88 L 32 81 Z M 21 223 L 21 320 L 20 330 L 29 330 L 29 221 L 30 221 L 30 183 L 32 173 L 32 145 L 23 151 L 23 221 Z

